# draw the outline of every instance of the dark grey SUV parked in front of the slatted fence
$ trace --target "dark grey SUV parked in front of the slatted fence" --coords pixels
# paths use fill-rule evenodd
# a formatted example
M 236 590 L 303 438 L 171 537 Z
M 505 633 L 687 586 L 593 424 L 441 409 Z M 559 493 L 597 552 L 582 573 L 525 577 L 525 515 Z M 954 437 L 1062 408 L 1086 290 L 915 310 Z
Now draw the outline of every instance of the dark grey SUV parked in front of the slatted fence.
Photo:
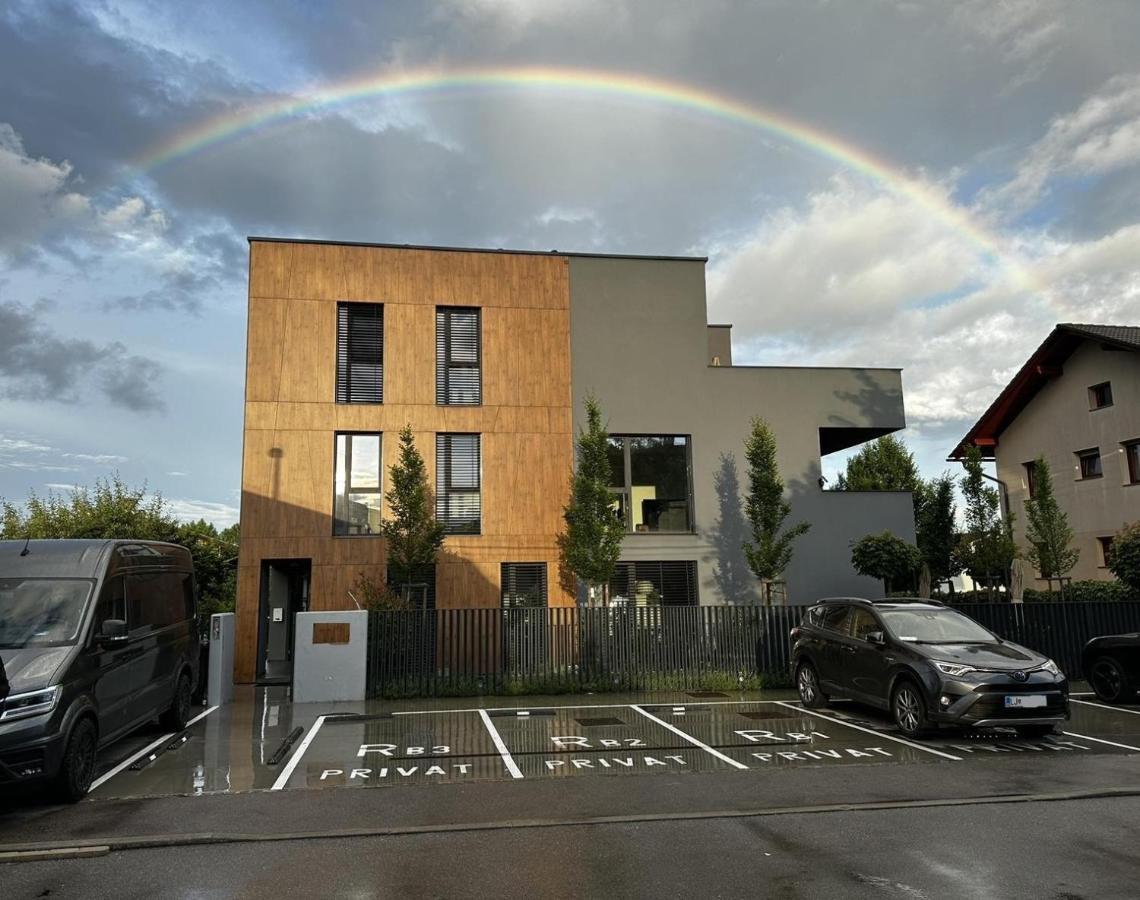
M 907 736 L 943 723 L 1041 736 L 1069 715 L 1068 680 L 1051 659 L 930 600 L 824 600 L 791 638 L 804 706 L 860 700 Z

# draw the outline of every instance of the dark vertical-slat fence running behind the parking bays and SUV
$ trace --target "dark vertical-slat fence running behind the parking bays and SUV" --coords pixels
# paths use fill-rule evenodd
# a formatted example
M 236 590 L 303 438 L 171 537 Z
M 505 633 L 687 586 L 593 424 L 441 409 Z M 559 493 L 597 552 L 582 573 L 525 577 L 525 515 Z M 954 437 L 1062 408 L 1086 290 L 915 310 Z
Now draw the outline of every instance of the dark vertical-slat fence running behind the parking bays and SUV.
M 1140 630 L 1140 603 L 968 603 L 1000 637 L 1080 678 L 1098 634 Z M 728 690 L 787 684 L 805 607 L 421 609 L 372 613 L 370 696 Z

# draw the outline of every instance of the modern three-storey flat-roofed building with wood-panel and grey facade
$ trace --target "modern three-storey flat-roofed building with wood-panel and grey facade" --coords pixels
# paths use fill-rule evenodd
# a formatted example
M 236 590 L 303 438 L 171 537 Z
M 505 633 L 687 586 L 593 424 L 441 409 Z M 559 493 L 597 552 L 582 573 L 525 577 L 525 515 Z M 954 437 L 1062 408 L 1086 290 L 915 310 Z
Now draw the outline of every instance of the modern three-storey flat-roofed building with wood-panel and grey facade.
M 418 602 L 576 602 L 557 536 L 594 394 L 628 536 L 616 602 L 758 597 L 743 444 L 772 424 L 792 520 L 792 601 L 864 593 L 850 542 L 913 540 L 905 493 L 821 489 L 821 454 L 904 425 L 898 370 L 732 365 L 703 258 L 250 241 L 237 600 L 239 681 L 287 674 L 292 614 L 352 608 L 385 576 L 388 471 L 409 424 L 448 537 Z

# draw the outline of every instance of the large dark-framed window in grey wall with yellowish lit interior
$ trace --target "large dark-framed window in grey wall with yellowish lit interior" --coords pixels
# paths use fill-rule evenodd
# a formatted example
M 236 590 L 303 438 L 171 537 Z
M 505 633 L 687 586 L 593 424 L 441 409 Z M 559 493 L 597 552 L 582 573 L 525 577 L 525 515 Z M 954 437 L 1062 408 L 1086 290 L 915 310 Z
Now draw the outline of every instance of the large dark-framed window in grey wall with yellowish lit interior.
M 627 532 L 691 532 L 689 438 L 611 437 L 610 490 Z

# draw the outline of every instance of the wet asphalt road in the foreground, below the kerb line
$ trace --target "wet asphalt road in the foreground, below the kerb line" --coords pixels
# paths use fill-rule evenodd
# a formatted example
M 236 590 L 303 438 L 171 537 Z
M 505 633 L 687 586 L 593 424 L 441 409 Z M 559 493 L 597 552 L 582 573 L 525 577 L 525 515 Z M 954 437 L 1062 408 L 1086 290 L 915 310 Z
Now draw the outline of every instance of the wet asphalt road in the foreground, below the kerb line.
M 0 869 L 16 898 L 1134 898 L 1140 798 L 182 846 Z

